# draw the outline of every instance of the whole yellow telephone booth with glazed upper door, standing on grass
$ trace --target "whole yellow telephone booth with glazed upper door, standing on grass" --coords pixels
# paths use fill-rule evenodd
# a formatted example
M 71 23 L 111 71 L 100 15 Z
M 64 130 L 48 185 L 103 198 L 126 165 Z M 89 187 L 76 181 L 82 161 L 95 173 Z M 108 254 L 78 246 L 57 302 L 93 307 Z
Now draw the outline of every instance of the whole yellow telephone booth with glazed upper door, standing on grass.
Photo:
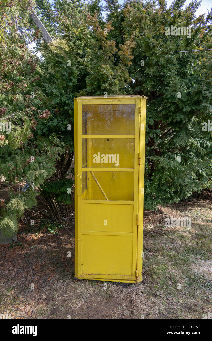
M 75 111 L 75 277 L 142 281 L 146 98 L 82 96 Z

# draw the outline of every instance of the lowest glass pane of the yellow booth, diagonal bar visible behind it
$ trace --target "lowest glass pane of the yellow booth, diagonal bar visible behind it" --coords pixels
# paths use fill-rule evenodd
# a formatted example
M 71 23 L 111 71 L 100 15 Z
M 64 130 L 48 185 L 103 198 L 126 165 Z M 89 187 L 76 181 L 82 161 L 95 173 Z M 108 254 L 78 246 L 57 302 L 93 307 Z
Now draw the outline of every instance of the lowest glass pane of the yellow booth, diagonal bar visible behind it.
M 134 200 L 134 172 L 82 172 L 82 199 Z

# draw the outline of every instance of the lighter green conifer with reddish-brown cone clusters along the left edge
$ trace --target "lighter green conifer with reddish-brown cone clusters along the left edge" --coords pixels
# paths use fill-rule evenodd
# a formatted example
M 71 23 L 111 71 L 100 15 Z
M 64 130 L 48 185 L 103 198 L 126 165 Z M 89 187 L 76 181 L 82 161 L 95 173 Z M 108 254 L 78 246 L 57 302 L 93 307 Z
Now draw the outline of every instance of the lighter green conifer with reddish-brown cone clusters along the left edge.
M 38 58 L 26 45 L 29 24 L 24 13 L 31 5 L 4 2 L 1 7 L 1 27 L 6 30 L 0 45 L 0 228 L 8 237 L 17 232 L 17 219 L 25 209 L 37 204 L 37 188 L 55 173 L 64 146 L 56 134 L 35 132 L 51 114 L 36 84 Z M 30 188 L 21 191 L 26 181 Z

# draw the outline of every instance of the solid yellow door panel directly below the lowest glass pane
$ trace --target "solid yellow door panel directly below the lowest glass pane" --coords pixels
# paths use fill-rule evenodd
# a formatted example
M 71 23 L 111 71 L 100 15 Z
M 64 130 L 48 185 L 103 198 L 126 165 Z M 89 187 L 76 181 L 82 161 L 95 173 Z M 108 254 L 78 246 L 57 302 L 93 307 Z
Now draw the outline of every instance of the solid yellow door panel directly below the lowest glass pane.
M 133 232 L 132 221 L 133 205 L 82 204 L 82 231 Z

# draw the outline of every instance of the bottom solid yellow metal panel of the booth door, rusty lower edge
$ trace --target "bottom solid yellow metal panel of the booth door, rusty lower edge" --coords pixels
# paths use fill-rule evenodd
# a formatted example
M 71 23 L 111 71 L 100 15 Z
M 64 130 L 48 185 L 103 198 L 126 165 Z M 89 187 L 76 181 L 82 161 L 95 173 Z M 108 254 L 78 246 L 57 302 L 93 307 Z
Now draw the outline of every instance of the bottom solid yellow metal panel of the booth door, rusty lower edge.
M 130 236 L 83 234 L 82 275 L 95 274 L 105 278 L 107 275 L 126 276 L 133 279 L 132 246 L 133 238 Z

